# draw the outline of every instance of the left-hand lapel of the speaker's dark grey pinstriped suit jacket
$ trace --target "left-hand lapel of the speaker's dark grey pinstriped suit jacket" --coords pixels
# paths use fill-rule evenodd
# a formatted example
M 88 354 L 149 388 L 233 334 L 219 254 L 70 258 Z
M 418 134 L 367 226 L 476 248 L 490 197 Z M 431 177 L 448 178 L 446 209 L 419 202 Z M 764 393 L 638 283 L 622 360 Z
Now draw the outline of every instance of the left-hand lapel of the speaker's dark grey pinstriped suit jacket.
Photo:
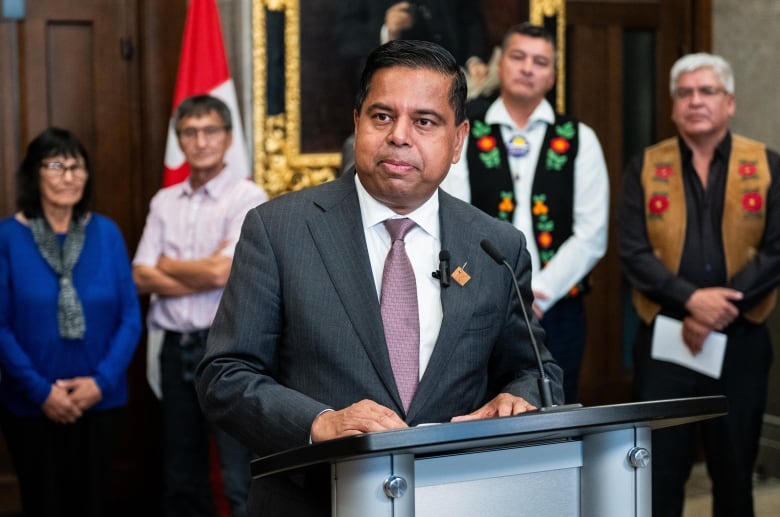
M 350 323 L 385 388 L 400 408 L 402 404 L 385 344 L 354 174 L 334 181 L 332 189 L 326 192 L 315 200 L 321 211 L 307 221 L 312 239 Z

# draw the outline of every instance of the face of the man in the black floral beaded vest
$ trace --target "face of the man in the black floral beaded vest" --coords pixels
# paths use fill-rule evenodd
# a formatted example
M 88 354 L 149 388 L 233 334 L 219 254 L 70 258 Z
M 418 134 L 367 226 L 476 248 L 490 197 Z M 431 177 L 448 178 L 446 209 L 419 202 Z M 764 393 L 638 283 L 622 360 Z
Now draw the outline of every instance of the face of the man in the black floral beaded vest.
M 538 104 L 555 84 L 555 49 L 544 38 L 512 34 L 498 61 L 501 96 Z

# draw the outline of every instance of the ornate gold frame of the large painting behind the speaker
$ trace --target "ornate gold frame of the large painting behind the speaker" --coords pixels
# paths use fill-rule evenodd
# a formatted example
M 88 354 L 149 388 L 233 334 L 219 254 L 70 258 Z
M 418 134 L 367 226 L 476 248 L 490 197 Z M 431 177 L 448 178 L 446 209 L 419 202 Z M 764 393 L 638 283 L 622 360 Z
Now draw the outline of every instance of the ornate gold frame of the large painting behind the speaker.
M 336 177 L 341 164 L 341 148 L 338 146 L 327 152 L 302 151 L 300 5 L 300 0 L 252 2 L 255 180 L 271 197 L 330 181 Z M 565 5 L 565 0 L 529 0 L 530 21 L 555 26 L 558 47 L 555 105 L 561 112 L 565 105 Z M 284 18 L 284 41 L 269 43 L 269 15 L 279 14 Z M 327 25 L 327 21 L 319 21 Z M 283 45 L 284 49 L 284 110 L 269 114 L 270 44 Z

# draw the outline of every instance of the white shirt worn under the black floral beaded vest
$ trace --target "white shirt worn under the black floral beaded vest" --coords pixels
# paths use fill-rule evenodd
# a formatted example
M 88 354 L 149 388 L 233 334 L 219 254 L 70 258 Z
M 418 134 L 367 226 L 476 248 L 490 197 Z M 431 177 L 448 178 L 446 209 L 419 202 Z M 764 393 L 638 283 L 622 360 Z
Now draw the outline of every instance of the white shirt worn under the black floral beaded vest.
M 607 224 L 609 220 L 609 177 L 601 145 L 593 130 L 583 123 L 578 124 L 579 147 L 574 162 L 574 212 L 572 235 L 564 242 L 553 259 L 540 271 L 539 253 L 534 241 L 531 219 L 531 189 L 536 173 L 544 135 L 547 127 L 555 122 L 555 112 L 546 100 L 528 119 L 524 128 L 517 127 L 501 98 L 488 108 L 485 114 L 487 124 L 501 124 L 504 143 L 522 134 L 530 145 L 524 157 L 508 156 L 509 170 L 514 179 L 517 206 L 513 224 L 523 232 L 531 254 L 533 278 L 531 286 L 535 292 L 547 297 L 537 298 L 536 304 L 546 311 L 568 293 L 574 284 L 584 277 L 607 249 Z M 453 164 L 441 184 L 448 193 L 471 202 L 466 144 L 458 163 Z

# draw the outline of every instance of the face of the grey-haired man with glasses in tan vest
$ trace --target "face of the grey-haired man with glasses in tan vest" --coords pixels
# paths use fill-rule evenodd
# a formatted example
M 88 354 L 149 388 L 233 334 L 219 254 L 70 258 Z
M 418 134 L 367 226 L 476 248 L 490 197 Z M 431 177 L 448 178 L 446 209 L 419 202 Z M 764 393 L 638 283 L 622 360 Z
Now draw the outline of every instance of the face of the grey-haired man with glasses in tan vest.
M 681 74 L 672 97 L 672 120 L 689 139 L 719 137 L 734 116 L 734 96 L 726 93 L 710 68 Z

